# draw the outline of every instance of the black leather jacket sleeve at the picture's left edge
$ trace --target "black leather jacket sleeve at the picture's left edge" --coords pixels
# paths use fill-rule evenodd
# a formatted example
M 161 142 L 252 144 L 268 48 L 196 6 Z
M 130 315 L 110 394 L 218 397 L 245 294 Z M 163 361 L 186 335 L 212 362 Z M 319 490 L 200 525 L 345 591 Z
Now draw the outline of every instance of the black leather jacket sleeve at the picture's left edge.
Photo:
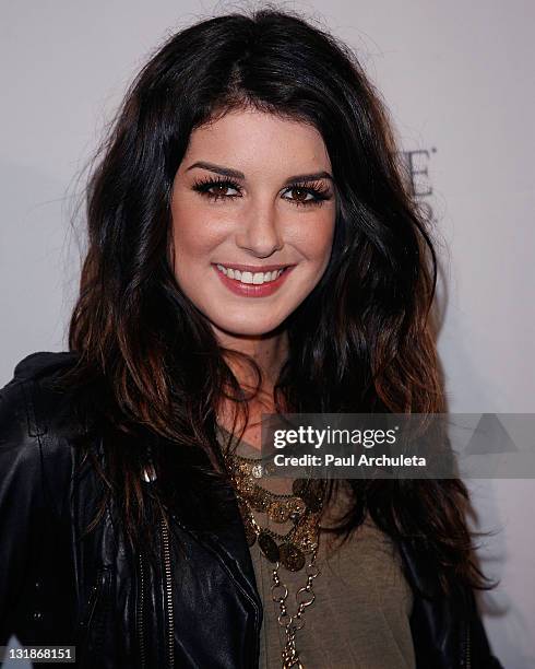
M 41 449 L 28 413 L 27 385 L 0 390 L 0 645 L 24 624 L 24 594 L 44 521 Z

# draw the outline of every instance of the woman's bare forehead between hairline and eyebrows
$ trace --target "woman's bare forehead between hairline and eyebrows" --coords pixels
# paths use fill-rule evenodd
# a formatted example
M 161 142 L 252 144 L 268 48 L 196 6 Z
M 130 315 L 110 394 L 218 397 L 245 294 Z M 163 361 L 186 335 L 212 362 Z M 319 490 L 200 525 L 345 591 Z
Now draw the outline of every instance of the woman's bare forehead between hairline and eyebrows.
M 239 109 L 193 130 L 186 161 L 205 160 L 243 172 L 329 169 L 320 132 L 304 121 Z

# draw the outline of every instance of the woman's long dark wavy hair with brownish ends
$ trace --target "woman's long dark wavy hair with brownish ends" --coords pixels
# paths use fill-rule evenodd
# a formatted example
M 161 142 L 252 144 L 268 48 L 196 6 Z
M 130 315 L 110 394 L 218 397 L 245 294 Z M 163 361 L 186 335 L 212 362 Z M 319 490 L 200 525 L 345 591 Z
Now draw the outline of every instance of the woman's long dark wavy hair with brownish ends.
M 283 324 L 289 351 L 276 411 L 445 411 L 433 243 L 380 96 L 355 54 L 321 26 L 271 8 L 181 30 L 135 78 L 96 155 L 88 248 L 69 330 L 79 356 L 64 377 L 87 390 L 98 430 L 112 430 L 100 473 L 134 548 L 148 536 L 148 496 L 163 518 L 186 503 L 199 518 L 210 490 L 228 480 L 217 410 L 222 398 L 234 398 L 242 435 L 254 395 L 243 395 L 229 356 L 247 360 L 257 390 L 261 384 L 252 359 L 218 343 L 171 261 L 171 186 L 189 137 L 245 107 L 316 127 L 337 193 L 328 269 Z M 150 493 L 141 477 L 147 462 L 157 477 Z M 488 587 L 473 559 L 461 480 L 346 485 L 353 508 L 336 528 L 341 537 L 369 514 L 394 540 L 421 551 L 444 591 L 459 580 Z M 335 488 L 331 481 L 330 496 Z

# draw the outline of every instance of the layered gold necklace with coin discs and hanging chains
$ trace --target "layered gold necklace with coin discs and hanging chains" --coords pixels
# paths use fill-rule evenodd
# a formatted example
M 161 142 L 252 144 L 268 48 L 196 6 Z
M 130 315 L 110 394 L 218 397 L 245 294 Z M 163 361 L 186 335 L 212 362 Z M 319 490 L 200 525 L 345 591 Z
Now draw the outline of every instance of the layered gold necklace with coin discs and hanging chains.
M 286 637 L 282 650 L 282 667 L 300 669 L 304 665 L 299 659 L 295 637 L 305 624 L 306 608 L 316 599 L 312 584 L 320 573 L 316 559 L 325 482 L 320 479 L 295 479 L 292 493 L 274 493 L 258 483 L 259 479 L 270 471 L 269 463 L 263 465 L 258 458 L 229 453 L 224 453 L 224 457 L 235 486 L 247 542 L 250 547 L 258 542 L 262 554 L 274 565 L 271 591 L 273 601 L 278 602 L 277 621 Z M 293 525 L 285 533 L 275 532 L 269 527 L 261 527 L 254 512 L 266 514 L 274 523 L 290 520 Z M 278 575 L 281 564 L 290 572 L 299 572 L 306 567 L 307 582 L 296 592 L 297 610 L 293 615 L 288 613 L 286 605 L 288 588 Z

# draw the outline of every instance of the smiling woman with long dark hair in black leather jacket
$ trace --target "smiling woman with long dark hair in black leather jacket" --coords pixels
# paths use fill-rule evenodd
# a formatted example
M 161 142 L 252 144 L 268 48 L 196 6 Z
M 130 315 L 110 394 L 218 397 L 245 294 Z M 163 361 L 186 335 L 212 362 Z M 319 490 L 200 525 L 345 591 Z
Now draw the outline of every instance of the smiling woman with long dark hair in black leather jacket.
M 70 351 L 2 391 L 0 643 L 500 666 L 461 481 L 252 472 L 262 412 L 444 411 L 435 254 L 395 157 L 350 50 L 292 14 L 198 23 L 143 68 L 88 184 Z

